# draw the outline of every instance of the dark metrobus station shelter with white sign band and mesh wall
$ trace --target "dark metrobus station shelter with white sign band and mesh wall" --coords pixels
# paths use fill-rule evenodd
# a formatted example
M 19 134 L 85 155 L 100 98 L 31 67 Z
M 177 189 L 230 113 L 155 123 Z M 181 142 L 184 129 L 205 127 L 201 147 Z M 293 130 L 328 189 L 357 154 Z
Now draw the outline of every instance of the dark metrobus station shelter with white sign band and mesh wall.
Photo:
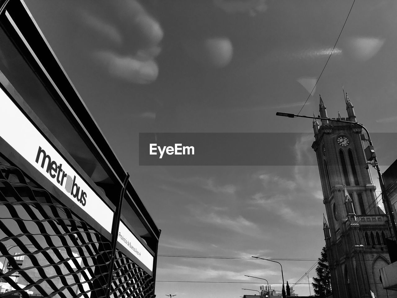
M 22 0 L 0 2 L 0 295 L 153 297 L 160 230 Z M 1 266 L 1 265 L 0 265 Z M 6 289 L 2 291 L 3 289 Z

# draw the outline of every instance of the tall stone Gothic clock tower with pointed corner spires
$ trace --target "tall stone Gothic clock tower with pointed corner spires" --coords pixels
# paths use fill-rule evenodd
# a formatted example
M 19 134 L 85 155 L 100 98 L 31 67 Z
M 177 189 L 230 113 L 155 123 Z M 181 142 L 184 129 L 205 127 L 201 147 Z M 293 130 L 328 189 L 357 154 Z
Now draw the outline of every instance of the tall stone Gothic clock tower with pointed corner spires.
M 360 126 L 332 120 L 357 122 L 353 105 L 345 98 L 347 117 L 328 118 L 320 96 L 320 117 L 313 121 L 320 180 L 328 223 L 324 237 L 334 298 L 387 296 L 379 269 L 390 263 L 385 245 L 389 237 L 387 216 L 377 204 L 374 183 L 364 154 Z

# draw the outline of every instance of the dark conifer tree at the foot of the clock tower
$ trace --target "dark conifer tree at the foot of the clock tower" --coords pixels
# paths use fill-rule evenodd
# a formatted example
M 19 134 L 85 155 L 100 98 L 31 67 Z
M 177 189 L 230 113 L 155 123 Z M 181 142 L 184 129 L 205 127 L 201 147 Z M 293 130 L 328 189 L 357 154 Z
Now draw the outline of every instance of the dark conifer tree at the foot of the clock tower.
M 321 257 L 318 258 L 316 273 L 317 277 L 313 277 L 314 282 L 312 283 L 314 294 L 320 297 L 331 294 L 331 273 L 325 247 L 322 248 Z

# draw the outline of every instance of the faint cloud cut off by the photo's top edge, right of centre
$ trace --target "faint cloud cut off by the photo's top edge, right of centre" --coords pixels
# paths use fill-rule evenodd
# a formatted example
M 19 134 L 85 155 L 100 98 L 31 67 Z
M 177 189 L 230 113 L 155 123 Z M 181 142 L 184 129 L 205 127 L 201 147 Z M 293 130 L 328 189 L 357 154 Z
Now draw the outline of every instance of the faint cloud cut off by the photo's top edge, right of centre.
M 229 14 L 248 12 L 251 16 L 266 12 L 266 0 L 213 0 L 214 5 Z

